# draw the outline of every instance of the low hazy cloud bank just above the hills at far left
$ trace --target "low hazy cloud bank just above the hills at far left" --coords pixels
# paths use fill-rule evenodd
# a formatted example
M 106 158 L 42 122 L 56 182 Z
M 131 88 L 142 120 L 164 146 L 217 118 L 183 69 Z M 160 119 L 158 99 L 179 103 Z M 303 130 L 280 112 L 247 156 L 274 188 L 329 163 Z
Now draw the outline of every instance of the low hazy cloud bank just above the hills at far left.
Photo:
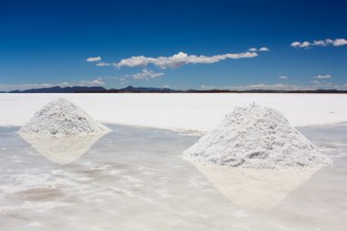
M 62 88 L 65 87 L 100 87 L 104 86 L 105 83 L 101 78 L 92 79 L 92 80 L 78 80 L 72 82 L 60 82 L 60 83 L 23 83 L 23 84 L 0 84 L 0 91 L 9 91 L 9 90 L 24 90 L 24 89 L 42 89 L 42 88 L 51 88 L 59 86 Z

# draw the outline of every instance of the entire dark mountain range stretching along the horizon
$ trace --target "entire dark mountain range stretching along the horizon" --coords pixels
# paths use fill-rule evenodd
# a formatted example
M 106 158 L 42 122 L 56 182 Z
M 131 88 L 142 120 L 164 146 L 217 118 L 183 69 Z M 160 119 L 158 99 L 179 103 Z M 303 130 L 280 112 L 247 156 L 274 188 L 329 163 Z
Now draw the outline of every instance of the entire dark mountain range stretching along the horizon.
M 248 89 L 248 90 L 228 90 L 228 89 L 168 89 L 168 88 L 134 88 L 128 86 L 123 89 L 104 89 L 102 87 L 51 87 L 43 89 L 25 89 L 0 91 L 0 93 L 347 93 L 347 90 L 338 89 L 316 89 L 316 90 L 278 90 L 278 89 Z

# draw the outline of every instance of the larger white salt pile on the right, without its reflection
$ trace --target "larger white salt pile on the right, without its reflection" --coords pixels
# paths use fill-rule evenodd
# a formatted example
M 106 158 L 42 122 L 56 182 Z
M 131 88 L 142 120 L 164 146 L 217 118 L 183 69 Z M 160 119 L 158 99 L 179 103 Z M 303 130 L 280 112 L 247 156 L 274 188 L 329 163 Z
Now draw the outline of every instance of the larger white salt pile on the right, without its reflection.
M 331 163 L 278 110 L 256 104 L 237 107 L 183 155 L 193 162 L 258 169 Z

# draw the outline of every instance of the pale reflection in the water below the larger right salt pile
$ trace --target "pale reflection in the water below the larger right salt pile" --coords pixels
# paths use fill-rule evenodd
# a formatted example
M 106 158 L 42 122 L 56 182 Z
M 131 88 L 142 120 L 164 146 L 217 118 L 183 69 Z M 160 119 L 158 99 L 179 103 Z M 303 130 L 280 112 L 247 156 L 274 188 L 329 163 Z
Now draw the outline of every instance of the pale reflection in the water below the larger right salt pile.
M 247 169 L 194 163 L 195 167 L 233 204 L 247 209 L 279 205 L 286 196 L 321 168 Z

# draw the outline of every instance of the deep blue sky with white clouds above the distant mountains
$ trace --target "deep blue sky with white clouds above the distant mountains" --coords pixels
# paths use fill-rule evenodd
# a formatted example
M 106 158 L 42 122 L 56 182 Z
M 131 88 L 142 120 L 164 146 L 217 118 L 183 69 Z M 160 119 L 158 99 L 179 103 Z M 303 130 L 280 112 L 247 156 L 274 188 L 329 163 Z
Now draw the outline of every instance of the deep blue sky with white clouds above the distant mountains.
M 3 0 L 0 90 L 347 89 L 345 16 L 334 0 Z

